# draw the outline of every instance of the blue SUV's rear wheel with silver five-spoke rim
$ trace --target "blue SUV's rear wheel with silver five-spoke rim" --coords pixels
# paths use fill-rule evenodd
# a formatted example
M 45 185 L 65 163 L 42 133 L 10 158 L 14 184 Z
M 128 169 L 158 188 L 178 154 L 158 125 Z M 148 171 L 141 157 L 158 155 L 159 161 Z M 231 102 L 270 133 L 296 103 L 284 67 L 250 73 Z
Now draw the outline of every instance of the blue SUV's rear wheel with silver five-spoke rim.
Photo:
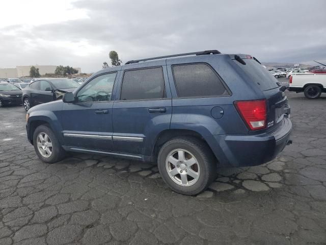
M 189 166 L 193 162 L 196 163 Z M 194 137 L 178 137 L 162 145 L 157 165 L 165 183 L 172 190 L 185 195 L 199 194 L 216 178 L 216 160 L 213 153 L 204 142 Z

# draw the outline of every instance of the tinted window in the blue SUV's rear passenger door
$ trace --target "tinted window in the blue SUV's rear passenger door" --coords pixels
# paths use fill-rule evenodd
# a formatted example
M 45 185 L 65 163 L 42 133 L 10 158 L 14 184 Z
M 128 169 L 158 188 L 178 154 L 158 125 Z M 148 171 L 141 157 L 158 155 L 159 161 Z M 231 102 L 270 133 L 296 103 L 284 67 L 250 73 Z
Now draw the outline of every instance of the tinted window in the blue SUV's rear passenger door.
M 120 100 L 146 100 L 165 97 L 162 67 L 126 70 Z

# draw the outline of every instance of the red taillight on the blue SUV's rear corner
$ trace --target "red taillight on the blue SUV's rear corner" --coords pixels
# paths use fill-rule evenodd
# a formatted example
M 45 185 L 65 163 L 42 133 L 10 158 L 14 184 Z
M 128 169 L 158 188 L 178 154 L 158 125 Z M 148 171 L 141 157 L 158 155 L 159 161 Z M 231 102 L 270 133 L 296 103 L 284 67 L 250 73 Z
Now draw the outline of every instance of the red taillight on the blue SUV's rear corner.
M 266 100 L 236 101 L 234 105 L 250 130 L 266 127 Z

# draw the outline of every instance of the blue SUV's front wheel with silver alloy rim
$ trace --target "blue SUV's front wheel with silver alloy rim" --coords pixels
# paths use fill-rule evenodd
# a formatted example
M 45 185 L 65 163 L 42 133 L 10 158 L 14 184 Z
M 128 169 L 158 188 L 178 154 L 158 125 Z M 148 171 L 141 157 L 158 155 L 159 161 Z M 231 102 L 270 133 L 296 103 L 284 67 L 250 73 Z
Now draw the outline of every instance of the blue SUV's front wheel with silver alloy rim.
M 47 135 L 47 138 L 44 137 L 45 136 L 44 134 Z M 40 138 L 38 138 L 39 135 L 43 136 L 44 142 L 42 141 L 39 142 L 40 140 Z M 44 145 L 42 145 L 42 143 Z M 51 143 L 51 146 L 49 146 L 50 145 L 49 143 Z M 66 152 L 62 149 L 56 135 L 47 125 L 40 125 L 35 129 L 33 134 L 33 144 L 37 156 L 43 162 L 55 163 L 62 160 L 66 155 Z M 45 146 L 45 149 L 48 148 L 48 151 L 51 152 L 51 154 L 49 154 L 48 151 L 44 150 L 43 146 Z M 42 150 L 39 150 L 39 147 L 43 148 L 44 150 L 43 153 Z

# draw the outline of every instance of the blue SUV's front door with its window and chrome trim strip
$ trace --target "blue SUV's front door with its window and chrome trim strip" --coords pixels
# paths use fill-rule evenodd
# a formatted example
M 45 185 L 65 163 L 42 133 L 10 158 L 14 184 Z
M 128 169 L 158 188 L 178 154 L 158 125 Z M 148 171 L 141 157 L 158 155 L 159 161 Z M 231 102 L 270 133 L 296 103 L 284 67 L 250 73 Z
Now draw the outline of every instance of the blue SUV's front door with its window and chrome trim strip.
M 66 146 L 91 151 L 113 151 L 111 100 L 118 72 L 99 75 L 76 94 L 75 103 L 64 103 L 63 135 Z

